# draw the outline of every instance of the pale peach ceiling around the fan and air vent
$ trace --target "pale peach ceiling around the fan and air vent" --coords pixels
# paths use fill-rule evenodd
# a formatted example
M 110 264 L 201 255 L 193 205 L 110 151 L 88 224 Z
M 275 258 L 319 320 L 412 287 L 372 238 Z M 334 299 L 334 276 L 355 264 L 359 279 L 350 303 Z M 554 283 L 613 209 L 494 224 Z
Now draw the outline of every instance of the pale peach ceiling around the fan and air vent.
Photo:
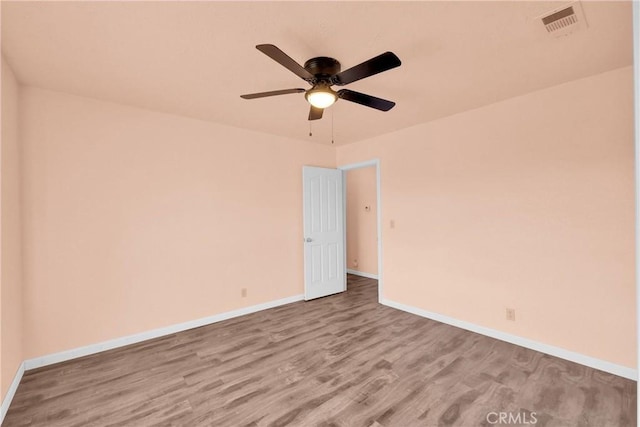
M 583 2 L 588 29 L 544 34 L 567 2 L 12 2 L 2 52 L 18 80 L 71 94 L 336 144 L 392 132 L 631 65 L 631 2 Z M 343 70 L 387 50 L 402 66 L 349 89 L 397 103 L 387 113 L 339 101 L 313 122 L 307 87 L 260 53 L 272 43 Z

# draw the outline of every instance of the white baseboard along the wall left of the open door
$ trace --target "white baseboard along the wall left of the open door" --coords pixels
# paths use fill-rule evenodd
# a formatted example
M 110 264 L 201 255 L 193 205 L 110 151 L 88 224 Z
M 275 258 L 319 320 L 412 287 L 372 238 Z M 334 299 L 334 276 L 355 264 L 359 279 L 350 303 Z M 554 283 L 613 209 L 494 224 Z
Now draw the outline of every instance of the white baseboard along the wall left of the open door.
M 302 301 L 303 295 L 294 295 L 288 298 L 282 298 L 275 301 L 269 301 L 262 304 L 252 305 L 250 307 L 239 308 L 225 313 L 214 314 L 213 316 L 204 317 L 202 319 L 191 320 L 184 323 L 166 326 L 164 328 L 153 329 L 151 331 L 141 332 L 139 334 L 128 335 L 125 337 L 115 338 L 101 343 L 90 344 L 84 347 L 78 347 L 71 350 L 61 351 L 59 353 L 48 354 L 45 356 L 35 357 L 24 361 L 24 369 L 30 370 L 40 368 L 42 366 L 52 365 L 54 363 L 65 362 L 67 360 L 78 357 L 88 356 L 90 354 L 99 353 L 101 351 L 111 350 L 118 347 L 124 347 L 129 344 L 135 344 L 153 338 L 165 335 L 175 334 L 177 332 L 186 331 L 188 329 L 198 328 L 200 326 L 210 325 L 212 323 L 221 322 L 223 320 L 232 319 L 245 314 L 256 313 L 258 311 L 269 308 L 278 307 L 292 302 Z

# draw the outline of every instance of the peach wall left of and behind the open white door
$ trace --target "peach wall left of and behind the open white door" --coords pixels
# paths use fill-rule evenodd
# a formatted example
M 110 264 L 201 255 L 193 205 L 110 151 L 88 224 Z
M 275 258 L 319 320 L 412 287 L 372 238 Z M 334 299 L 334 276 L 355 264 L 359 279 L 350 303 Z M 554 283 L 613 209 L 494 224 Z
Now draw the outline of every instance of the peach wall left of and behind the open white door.
M 20 114 L 25 358 L 303 292 L 333 148 L 33 88 Z

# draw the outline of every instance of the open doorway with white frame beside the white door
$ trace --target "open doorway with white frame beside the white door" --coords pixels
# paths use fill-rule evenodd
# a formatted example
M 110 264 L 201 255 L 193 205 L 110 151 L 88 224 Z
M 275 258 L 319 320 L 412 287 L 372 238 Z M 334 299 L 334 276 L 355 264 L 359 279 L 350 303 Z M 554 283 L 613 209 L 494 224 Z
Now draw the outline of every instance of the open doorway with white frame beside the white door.
M 338 167 L 343 174 L 345 268 L 351 281 L 377 280 L 382 298 L 380 160 Z M 349 286 L 347 280 L 347 287 Z M 360 280 L 358 280 L 360 281 Z

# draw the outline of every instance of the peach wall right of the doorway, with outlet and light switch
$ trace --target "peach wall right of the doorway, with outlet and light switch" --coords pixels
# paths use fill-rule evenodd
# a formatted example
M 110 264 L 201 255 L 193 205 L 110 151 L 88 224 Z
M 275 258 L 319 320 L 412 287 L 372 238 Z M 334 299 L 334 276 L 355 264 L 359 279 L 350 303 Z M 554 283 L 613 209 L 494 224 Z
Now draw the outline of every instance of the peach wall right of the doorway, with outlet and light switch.
M 337 152 L 374 157 L 384 298 L 635 368 L 631 67 Z

